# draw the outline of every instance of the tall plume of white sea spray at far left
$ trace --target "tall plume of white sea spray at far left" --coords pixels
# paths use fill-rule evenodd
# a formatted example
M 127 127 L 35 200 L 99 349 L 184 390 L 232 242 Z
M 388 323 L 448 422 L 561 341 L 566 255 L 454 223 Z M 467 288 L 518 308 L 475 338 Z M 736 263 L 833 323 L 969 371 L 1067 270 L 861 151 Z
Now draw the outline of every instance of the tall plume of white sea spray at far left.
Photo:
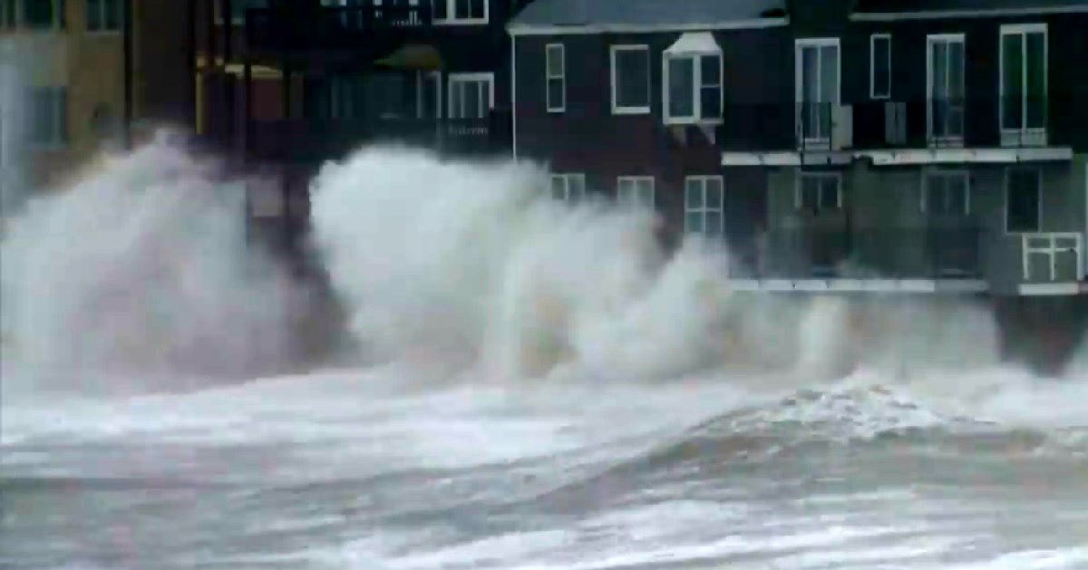
M 247 248 L 244 197 L 225 188 L 159 141 L 29 200 L 0 244 L 5 388 L 170 389 L 150 379 L 286 354 L 292 287 Z

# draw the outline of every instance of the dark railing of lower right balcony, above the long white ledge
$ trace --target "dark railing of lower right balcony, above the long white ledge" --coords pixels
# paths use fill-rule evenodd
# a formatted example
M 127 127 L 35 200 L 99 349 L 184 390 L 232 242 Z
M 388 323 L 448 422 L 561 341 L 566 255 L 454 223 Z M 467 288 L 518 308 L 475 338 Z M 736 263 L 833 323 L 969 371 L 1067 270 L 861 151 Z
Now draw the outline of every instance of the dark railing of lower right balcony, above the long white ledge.
M 953 228 L 776 228 L 740 251 L 743 278 L 977 278 L 981 232 Z

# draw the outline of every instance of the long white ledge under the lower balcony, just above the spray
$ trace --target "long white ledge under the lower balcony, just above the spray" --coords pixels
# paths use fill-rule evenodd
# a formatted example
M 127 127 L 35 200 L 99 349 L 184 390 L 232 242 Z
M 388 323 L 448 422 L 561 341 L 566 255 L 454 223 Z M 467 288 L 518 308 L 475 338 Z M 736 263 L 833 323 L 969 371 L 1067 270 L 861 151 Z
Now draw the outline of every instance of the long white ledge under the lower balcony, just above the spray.
M 982 280 L 888 280 L 888 278 L 772 278 L 727 280 L 726 286 L 734 290 L 776 293 L 916 293 L 962 294 L 985 293 L 990 286 Z

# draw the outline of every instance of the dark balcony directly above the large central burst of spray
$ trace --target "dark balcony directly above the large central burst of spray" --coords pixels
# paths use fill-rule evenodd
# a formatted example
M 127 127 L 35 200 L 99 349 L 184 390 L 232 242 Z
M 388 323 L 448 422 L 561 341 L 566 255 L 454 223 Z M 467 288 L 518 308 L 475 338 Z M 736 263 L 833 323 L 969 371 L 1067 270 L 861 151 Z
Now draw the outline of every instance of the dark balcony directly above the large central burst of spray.
M 255 121 L 247 158 L 257 162 L 319 162 L 369 144 L 399 144 L 471 157 L 509 150 L 509 112 L 483 119 Z

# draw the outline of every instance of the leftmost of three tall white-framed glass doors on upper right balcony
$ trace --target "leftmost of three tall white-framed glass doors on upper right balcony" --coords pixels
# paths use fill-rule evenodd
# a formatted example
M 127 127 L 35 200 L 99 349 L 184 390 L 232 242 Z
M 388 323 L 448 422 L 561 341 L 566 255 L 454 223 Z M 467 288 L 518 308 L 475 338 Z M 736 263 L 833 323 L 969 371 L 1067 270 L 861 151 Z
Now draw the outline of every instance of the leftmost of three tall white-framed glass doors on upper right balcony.
M 796 122 L 802 140 L 830 141 L 839 103 L 839 38 L 799 39 L 795 61 Z

